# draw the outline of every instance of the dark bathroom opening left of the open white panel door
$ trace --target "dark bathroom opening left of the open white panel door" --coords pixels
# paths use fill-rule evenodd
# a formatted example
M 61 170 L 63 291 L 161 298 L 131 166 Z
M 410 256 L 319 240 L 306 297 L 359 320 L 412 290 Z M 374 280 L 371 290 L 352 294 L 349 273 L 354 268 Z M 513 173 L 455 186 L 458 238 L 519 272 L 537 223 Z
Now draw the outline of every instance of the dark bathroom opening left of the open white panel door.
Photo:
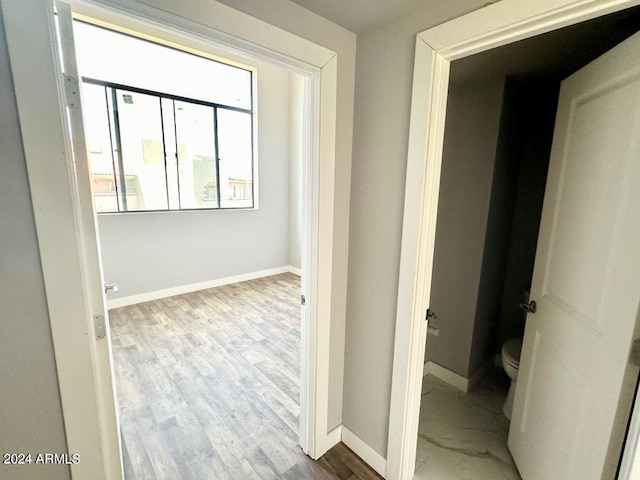
M 453 475 L 470 464 L 480 476 L 518 478 L 506 448 L 509 378 L 500 356 L 507 340 L 524 333 L 519 305 L 529 302 L 560 82 L 635 33 L 635 14 L 601 17 L 451 65 L 430 300 L 438 335 L 427 335 L 431 377 L 423 384 L 419 478 L 438 469 Z M 544 64 L 536 51 L 545 52 Z M 437 397 L 450 390 L 433 375 L 471 391 L 442 402 Z M 469 404 L 494 415 L 465 415 Z M 447 412 L 453 429 L 442 418 Z

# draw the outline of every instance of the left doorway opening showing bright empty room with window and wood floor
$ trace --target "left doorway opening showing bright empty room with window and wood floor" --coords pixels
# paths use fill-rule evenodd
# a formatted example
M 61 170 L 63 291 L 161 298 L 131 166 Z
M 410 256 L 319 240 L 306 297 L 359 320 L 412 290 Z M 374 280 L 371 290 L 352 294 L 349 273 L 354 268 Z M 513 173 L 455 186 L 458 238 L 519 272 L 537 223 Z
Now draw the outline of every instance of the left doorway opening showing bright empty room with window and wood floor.
M 302 461 L 300 278 L 272 274 L 301 273 L 304 78 L 87 20 L 74 33 L 105 278 L 120 287 L 108 303 L 124 306 L 109 317 L 125 477 L 277 476 Z

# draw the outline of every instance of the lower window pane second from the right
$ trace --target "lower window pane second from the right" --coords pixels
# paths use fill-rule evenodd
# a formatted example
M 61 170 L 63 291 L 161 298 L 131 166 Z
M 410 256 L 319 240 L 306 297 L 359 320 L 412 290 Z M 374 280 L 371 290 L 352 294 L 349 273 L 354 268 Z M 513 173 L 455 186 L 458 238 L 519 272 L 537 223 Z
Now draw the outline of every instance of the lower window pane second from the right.
M 213 108 L 175 102 L 181 208 L 218 208 Z

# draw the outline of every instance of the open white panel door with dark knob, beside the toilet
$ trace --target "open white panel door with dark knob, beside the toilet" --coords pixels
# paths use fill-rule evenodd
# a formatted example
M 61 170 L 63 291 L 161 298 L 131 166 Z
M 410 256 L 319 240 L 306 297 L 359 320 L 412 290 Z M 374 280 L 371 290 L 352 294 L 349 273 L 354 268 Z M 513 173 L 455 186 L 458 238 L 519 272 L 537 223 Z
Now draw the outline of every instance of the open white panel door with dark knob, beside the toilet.
M 640 34 L 562 83 L 509 447 L 600 479 L 640 299 Z

